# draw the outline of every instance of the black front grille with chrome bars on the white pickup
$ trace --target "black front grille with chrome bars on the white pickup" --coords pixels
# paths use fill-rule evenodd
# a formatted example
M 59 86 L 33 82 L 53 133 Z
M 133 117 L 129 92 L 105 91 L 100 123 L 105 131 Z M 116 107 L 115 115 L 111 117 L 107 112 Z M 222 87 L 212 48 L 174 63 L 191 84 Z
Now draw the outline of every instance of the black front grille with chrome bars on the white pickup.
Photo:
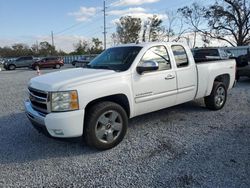
M 34 88 L 29 89 L 29 98 L 32 107 L 40 113 L 49 113 L 49 94 L 45 91 L 40 91 Z

